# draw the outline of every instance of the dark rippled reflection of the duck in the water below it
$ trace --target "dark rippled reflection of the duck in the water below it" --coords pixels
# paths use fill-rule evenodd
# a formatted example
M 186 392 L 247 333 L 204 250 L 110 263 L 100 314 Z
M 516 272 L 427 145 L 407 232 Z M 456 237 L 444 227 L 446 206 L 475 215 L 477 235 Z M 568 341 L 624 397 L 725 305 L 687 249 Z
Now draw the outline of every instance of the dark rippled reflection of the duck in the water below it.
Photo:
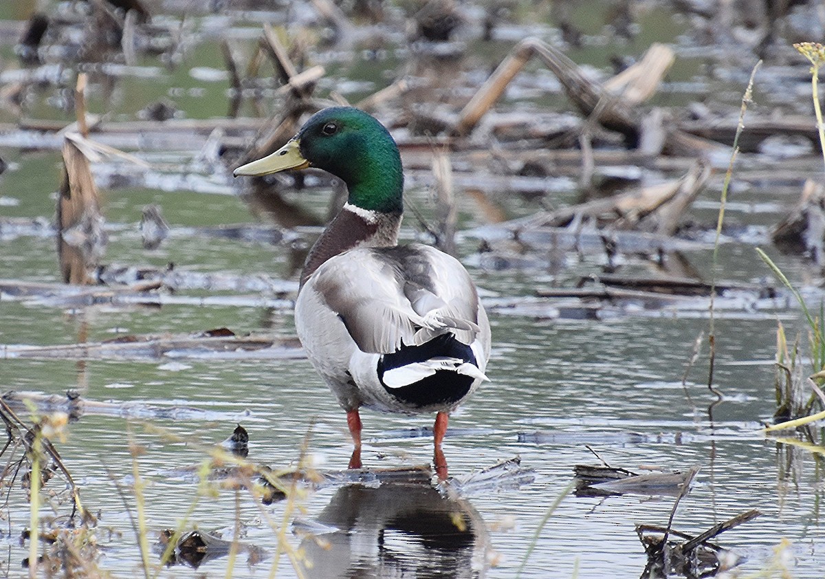
M 339 489 L 301 543 L 306 577 L 484 577 L 484 521 L 428 485 Z

